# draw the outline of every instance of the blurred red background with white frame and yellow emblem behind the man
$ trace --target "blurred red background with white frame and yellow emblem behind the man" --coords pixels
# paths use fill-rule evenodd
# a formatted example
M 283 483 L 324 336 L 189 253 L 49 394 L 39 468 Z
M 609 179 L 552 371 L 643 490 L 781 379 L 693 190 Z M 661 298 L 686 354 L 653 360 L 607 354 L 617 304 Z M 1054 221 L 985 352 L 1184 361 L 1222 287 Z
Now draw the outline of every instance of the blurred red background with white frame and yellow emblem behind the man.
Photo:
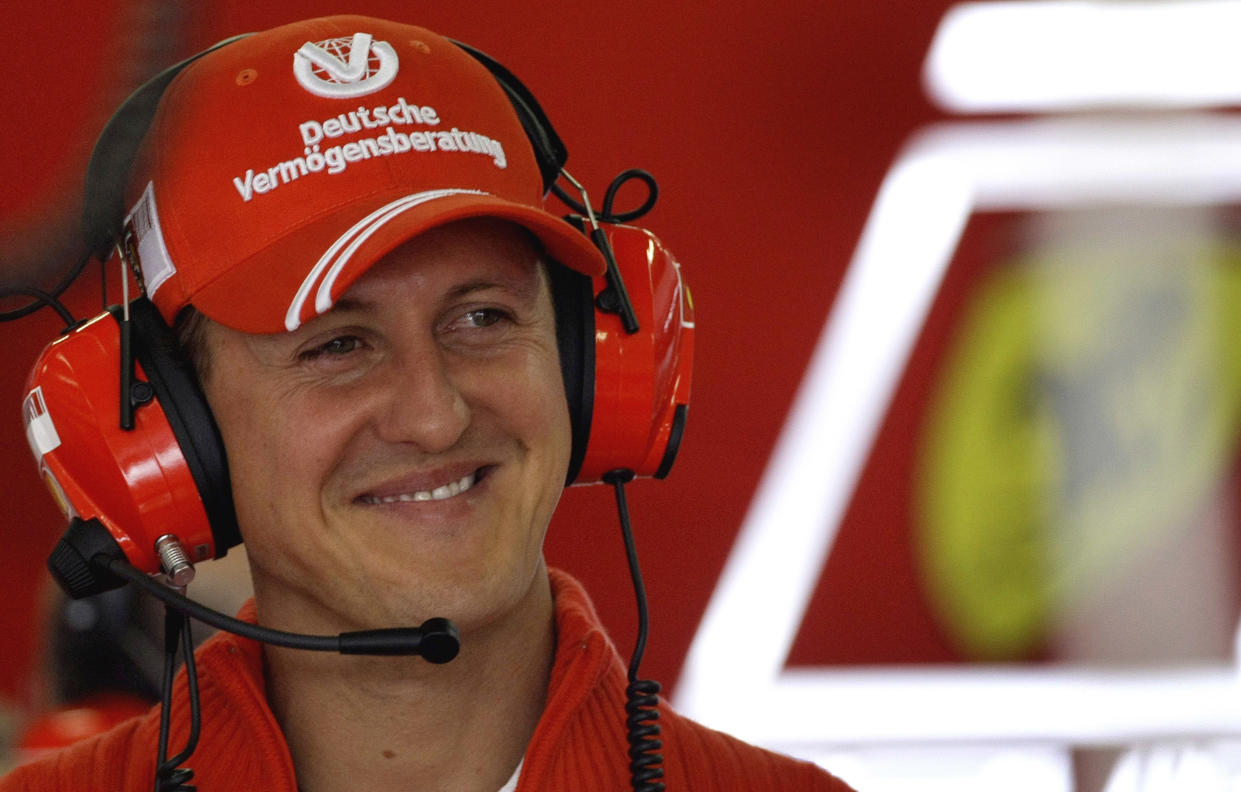
M 630 506 L 644 673 L 683 711 L 865 791 L 1241 788 L 1241 2 L 19 4 L 0 284 L 78 258 L 143 79 L 343 10 L 500 60 L 596 196 L 659 180 L 696 370 Z M 19 410 L 60 328 L 0 326 L 0 767 L 153 694 L 148 606 L 43 569 L 63 519 Z M 566 493 L 547 554 L 627 654 L 611 494 Z M 199 580 L 236 608 L 243 554 Z

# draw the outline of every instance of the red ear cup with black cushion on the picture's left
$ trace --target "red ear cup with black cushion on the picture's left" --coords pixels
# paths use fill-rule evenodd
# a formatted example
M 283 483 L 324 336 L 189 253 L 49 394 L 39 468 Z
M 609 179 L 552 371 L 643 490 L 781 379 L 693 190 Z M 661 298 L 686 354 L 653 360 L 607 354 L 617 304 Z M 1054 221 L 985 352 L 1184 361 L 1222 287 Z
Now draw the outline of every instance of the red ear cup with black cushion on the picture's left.
M 139 299 L 130 304 L 139 406 L 134 428 L 120 428 L 119 312 L 52 341 L 27 379 L 22 413 L 40 473 L 66 516 L 98 520 L 143 571 L 160 571 L 155 542 L 165 534 L 194 561 L 220 557 L 241 538 L 215 421 L 170 330 Z

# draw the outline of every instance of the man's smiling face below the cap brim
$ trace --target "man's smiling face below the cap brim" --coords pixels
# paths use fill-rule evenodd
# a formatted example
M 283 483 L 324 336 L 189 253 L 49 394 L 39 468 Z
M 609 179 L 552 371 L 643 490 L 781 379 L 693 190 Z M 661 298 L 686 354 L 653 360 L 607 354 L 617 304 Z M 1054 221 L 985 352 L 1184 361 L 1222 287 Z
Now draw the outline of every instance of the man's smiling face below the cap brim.
M 264 622 L 469 632 L 521 607 L 568 467 L 555 326 L 529 236 L 494 220 L 411 240 L 293 333 L 208 323 Z

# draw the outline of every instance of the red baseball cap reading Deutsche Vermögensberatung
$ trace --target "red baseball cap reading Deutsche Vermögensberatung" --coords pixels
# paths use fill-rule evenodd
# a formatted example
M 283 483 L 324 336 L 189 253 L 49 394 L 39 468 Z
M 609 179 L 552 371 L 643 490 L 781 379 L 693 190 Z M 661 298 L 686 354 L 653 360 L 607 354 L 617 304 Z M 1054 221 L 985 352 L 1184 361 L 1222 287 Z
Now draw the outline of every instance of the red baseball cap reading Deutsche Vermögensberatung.
M 160 98 L 125 218 L 148 295 L 246 333 L 328 310 L 406 240 L 464 217 L 527 228 L 557 262 L 604 272 L 542 207 L 530 140 L 496 78 L 428 30 L 307 20 L 190 63 Z

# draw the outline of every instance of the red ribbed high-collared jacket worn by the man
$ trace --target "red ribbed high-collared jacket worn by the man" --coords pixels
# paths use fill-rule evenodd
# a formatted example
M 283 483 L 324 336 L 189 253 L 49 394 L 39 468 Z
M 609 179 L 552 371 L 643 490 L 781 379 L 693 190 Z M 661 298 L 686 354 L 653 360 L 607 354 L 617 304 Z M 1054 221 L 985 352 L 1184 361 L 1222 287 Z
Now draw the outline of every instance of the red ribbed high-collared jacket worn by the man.
M 629 790 L 624 730 L 625 670 L 582 586 L 551 572 L 557 646 L 547 705 L 526 750 L 517 792 Z M 253 602 L 242 618 L 254 619 Z M 194 756 L 199 792 L 297 792 L 293 761 L 267 705 L 258 643 L 217 633 L 195 653 L 202 735 Z M 186 680 L 175 684 L 170 752 L 189 734 Z M 664 783 L 669 792 L 849 792 L 813 763 L 764 751 L 673 713 L 660 703 Z M 17 767 L 0 792 L 149 792 L 159 708 L 57 754 Z

